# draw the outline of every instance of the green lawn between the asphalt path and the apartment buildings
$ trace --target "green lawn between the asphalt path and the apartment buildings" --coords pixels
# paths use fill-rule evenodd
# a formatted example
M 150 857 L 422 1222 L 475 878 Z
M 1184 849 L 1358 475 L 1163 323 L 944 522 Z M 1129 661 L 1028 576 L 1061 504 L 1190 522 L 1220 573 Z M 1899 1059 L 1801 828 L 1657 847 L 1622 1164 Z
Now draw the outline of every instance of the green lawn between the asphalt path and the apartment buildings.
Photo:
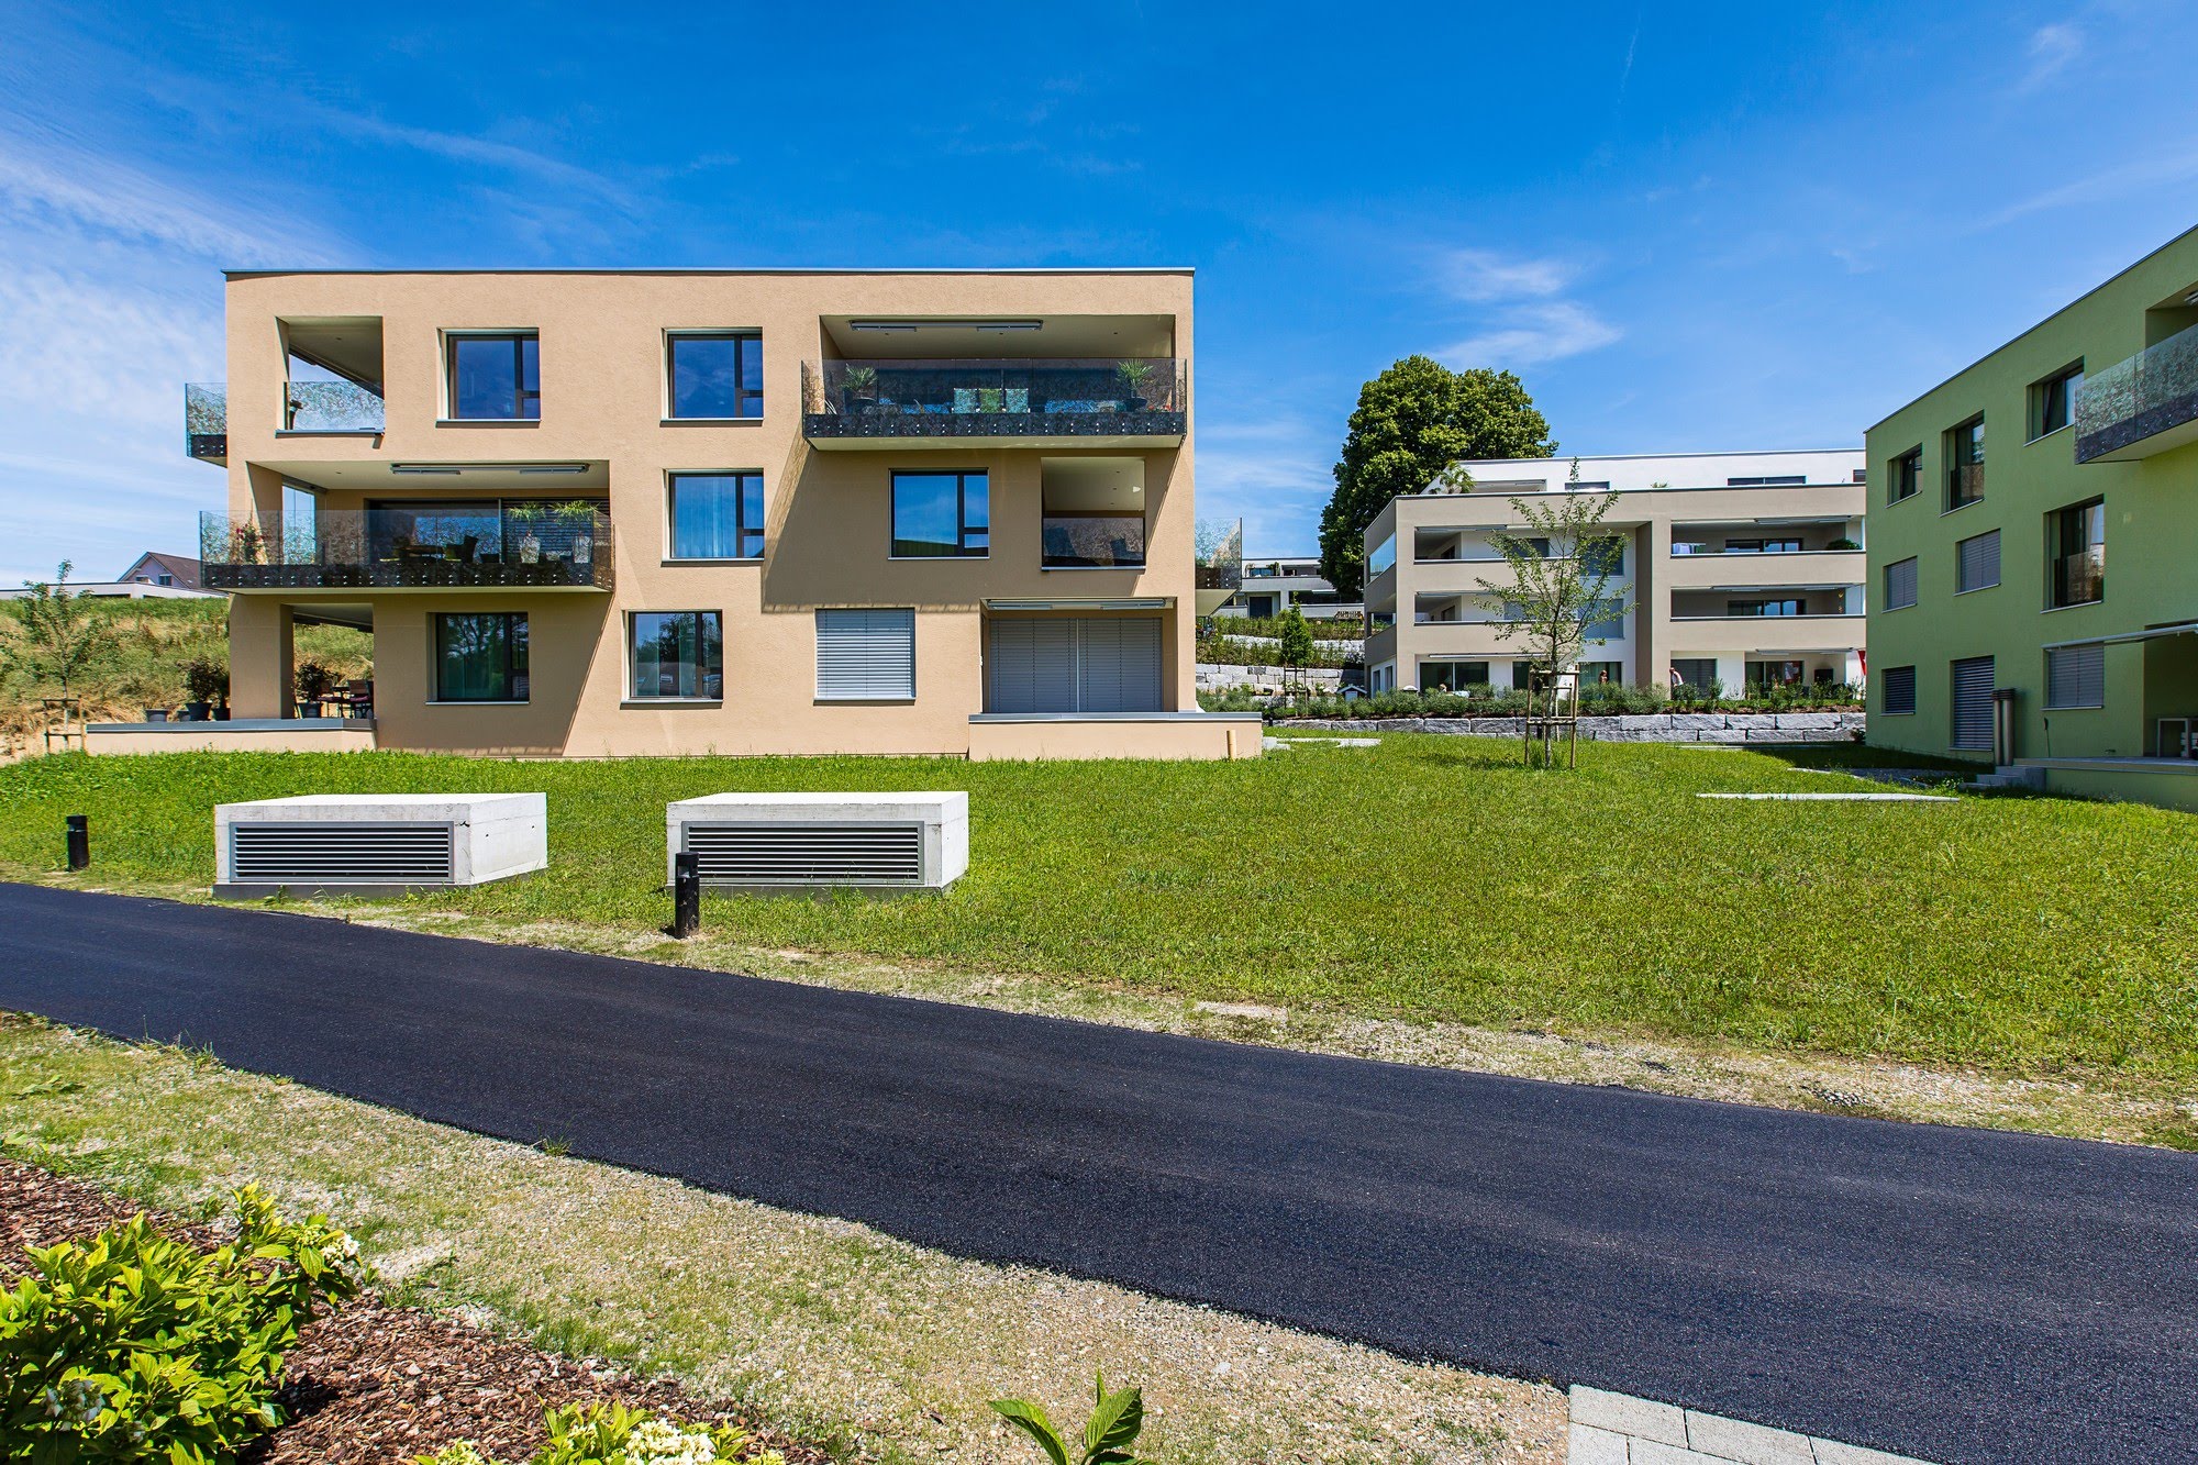
M 945 897 L 714 897 L 706 922 L 1367 1016 L 2198 1073 L 2198 818 L 1695 798 L 1866 787 L 1794 752 L 1589 746 L 1574 774 L 1517 757 L 1407 735 L 1253 763 L 70 754 L 0 770 L 0 867 L 51 878 L 81 812 L 90 882 L 202 886 L 220 801 L 547 790 L 545 875 L 422 900 L 640 933 L 668 919 L 670 798 L 963 787 L 972 867 Z

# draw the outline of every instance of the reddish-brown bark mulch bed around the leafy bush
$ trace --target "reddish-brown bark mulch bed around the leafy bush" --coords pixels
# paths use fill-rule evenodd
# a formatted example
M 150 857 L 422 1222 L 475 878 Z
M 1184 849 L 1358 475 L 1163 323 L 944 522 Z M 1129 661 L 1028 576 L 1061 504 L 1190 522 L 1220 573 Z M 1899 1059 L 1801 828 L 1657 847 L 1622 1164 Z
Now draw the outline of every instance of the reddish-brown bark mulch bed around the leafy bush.
M 0 1159 L 0 1287 L 26 1271 L 26 1245 L 88 1241 L 127 1221 L 99 1186 Z M 220 1232 L 154 1212 L 169 1236 L 215 1245 Z M 543 1410 L 620 1401 L 653 1414 L 725 1421 L 793 1465 L 831 1456 L 758 1428 L 752 1414 L 690 1397 L 677 1384 L 637 1379 L 607 1364 L 574 1362 L 495 1337 L 455 1318 L 391 1307 L 371 1293 L 321 1313 L 290 1351 L 277 1395 L 290 1421 L 244 1456 L 253 1465 L 338 1461 L 409 1465 L 413 1456 L 470 1439 L 481 1454 L 523 1461 L 545 1439 Z

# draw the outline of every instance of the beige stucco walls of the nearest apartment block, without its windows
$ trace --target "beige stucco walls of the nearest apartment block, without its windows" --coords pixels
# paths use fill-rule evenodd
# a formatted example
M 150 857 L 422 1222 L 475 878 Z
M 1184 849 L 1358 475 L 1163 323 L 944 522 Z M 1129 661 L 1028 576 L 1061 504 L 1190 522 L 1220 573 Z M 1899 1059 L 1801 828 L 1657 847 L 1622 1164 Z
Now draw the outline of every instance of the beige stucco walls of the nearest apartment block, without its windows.
M 229 565 L 229 583 L 218 579 L 220 565 L 209 572 L 235 592 L 235 717 L 292 715 L 290 629 L 299 618 L 371 629 L 380 748 L 969 754 L 972 717 L 996 711 L 991 634 L 1002 620 L 1033 616 L 1156 620 L 1156 706 L 1134 711 L 1198 708 L 1189 271 L 237 273 L 226 315 L 226 440 L 215 440 L 229 471 L 226 532 L 262 526 L 246 550 L 229 554 L 251 561 Z M 464 332 L 534 334 L 536 418 L 455 418 L 451 339 Z M 668 339 L 681 332 L 761 337 L 756 416 L 675 416 Z M 365 383 L 358 392 L 371 387 L 380 398 L 367 398 L 378 407 L 378 431 L 290 427 L 301 341 L 336 343 L 325 352 L 341 354 L 345 376 Z M 921 359 L 941 365 L 947 383 L 996 381 L 1018 363 L 1090 365 L 1084 376 L 1103 378 L 1103 367 L 1143 361 L 1169 392 L 1154 389 L 1152 409 L 1123 396 L 1128 405 L 1070 403 L 1044 416 L 1026 394 L 1011 392 L 1004 405 L 1031 411 L 1002 411 L 996 389 L 947 385 L 945 407 L 934 403 L 930 416 L 919 416 L 921 407 L 888 416 L 866 403 L 873 416 L 862 433 L 815 416 L 835 409 L 824 372 L 868 359 L 888 376 L 897 359 Z M 985 475 L 983 557 L 895 557 L 892 477 L 936 471 Z M 761 473 L 761 557 L 677 557 L 668 508 L 677 473 Z M 1143 563 L 1044 563 L 1048 499 L 1068 482 L 1106 484 L 1119 515 L 1110 524 L 1130 526 L 1125 539 L 1136 539 L 1141 524 Z M 292 524 L 292 543 L 275 546 L 286 502 L 292 521 L 297 504 L 312 504 L 332 526 L 345 515 L 365 519 L 369 508 L 389 515 L 451 499 L 596 504 L 607 515 L 596 554 L 609 559 L 576 565 L 571 585 L 510 585 L 495 581 L 510 574 L 517 550 L 503 546 L 503 563 L 484 572 L 468 543 L 464 572 L 486 583 L 391 585 L 385 581 L 402 574 L 387 554 L 347 565 L 347 583 L 330 583 L 345 581 L 328 570 L 330 530 L 319 550 L 301 550 Z M 321 563 L 306 563 L 314 554 Z M 222 546 L 211 546 L 211 557 L 222 561 Z M 444 570 L 433 561 L 435 574 Z M 818 612 L 844 607 L 912 612 L 912 697 L 818 695 Z M 437 695 L 437 616 L 479 612 L 525 616 L 523 697 Z M 717 612 L 723 695 L 631 695 L 629 616 L 637 612 Z M 1134 730 L 1092 719 L 1068 741 L 1084 757 L 1110 746 L 1121 757 L 1257 752 L 1257 739 L 1246 750 L 1187 717 Z M 987 739 L 993 757 L 1013 746 Z M 1024 746 L 1044 754 L 1051 743 Z

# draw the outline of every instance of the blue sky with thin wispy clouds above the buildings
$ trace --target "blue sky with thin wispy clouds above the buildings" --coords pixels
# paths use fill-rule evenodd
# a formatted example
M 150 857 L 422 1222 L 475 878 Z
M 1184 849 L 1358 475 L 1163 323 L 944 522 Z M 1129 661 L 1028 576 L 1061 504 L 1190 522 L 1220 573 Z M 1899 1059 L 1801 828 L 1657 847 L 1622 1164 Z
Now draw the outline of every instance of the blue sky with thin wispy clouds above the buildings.
M 0 581 L 189 552 L 224 266 L 1189 264 L 1275 554 L 1396 356 L 1860 444 L 2198 224 L 2187 0 L 470 9 L 0 0 Z

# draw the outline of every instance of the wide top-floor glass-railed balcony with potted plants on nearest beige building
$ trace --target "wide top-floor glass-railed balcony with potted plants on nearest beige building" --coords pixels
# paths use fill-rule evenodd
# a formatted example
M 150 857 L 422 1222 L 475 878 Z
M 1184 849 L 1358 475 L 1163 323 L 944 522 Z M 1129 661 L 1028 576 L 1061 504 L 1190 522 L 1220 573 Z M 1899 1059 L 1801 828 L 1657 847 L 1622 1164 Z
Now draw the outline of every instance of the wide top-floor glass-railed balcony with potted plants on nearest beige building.
M 826 361 L 802 363 L 802 433 L 822 449 L 1183 442 L 1183 363 Z

